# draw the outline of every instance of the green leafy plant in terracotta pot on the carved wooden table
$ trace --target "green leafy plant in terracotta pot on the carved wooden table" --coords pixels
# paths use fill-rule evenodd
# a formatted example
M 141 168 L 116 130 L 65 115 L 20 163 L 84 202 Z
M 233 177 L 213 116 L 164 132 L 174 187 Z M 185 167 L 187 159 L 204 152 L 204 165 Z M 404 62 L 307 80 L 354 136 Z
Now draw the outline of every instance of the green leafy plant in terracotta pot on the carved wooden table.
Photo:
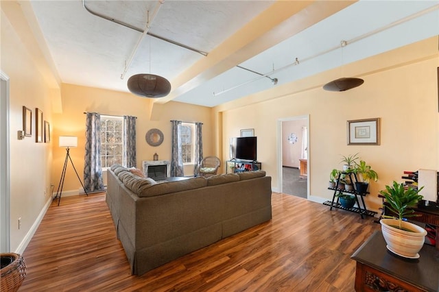
M 423 199 L 419 192 L 423 189 L 405 187 L 403 184 L 393 182 L 392 186 L 385 186 L 379 193 L 385 198 L 385 207 L 396 217 L 383 215 L 380 220 L 387 248 L 390 252 L 406 258 L 418 258 L 419 250 L 423 247 L 427 231 L 414 223 L 403 221 L 407 217 L 415 217 L 410 206 L 418 204 Z

